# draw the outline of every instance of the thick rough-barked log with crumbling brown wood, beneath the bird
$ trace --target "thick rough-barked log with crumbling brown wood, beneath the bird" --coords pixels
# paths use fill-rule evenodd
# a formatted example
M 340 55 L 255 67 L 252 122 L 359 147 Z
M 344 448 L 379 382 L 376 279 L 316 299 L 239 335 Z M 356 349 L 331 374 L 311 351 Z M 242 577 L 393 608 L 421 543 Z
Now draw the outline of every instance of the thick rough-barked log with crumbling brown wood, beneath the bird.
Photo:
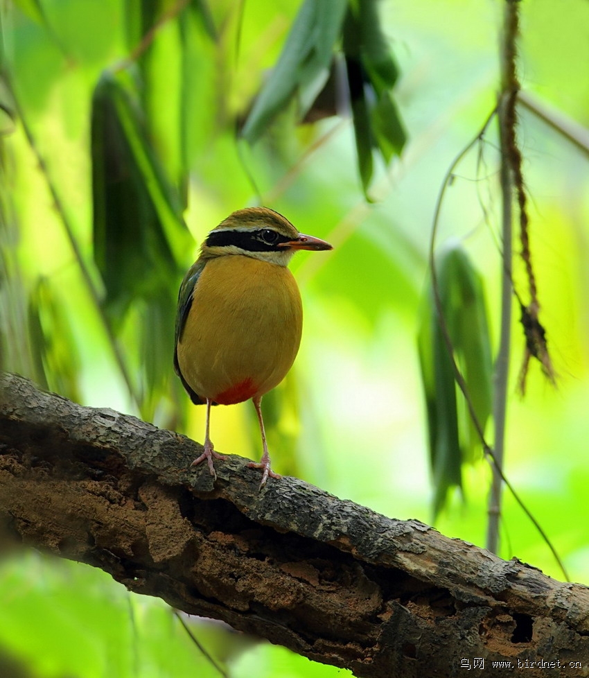
M 296 478 L 258 492 L 259 473 L 233 455 L 213 482 L 204 464 L 189 469 L 202 448 L 183 435 L 2 379 L 3 539 L 358 677 L 462 675 L 475 657 L 587 675 L 585 586 Z

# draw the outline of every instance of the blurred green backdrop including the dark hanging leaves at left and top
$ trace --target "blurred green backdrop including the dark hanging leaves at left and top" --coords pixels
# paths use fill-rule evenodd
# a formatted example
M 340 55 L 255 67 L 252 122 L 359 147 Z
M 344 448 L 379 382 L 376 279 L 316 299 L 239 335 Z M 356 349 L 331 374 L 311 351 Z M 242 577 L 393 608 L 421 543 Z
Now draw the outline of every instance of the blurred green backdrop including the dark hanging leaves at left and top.
M 304 12 L 322 6 L 324 22 L 305 23 L 313 15 Z M 417 337 L 444 177 L 495 107 L 502 3 L 346 7 L 0 1 L 1 367 L 202 441 L 204 408 L 172 367 L 177 289 L 211 228 L 235 209 L 267 205 L 334 246 L 291 264 L 304 336 L 287 379 L 265 398 L 273 468 L 484 546 L 491 474 L 480 445 L 461 467 L 461 488 L 445 486 L 433 510 Z M 532 361 L 518 394 L 525 339 L 514 305 L 504 470 L 570 579 L 589 583 L 589 4 L 520 7 L 519 138 L 556 387 Z M 364 46 L 351 19 L 342 24 L 346 11 L 368 27 Z M 313 26 L 317 42 L 302 58 L 297 39 Z M 279 61 L 289 49 L 301 57 L 294 66 Z M 351 57 L 363 64 L 360 94 Z M 317 102 L 330 69 L 328 82 L 344 87 Z M 492 356 L 498 171 L 491 121 L 452 170 L 436 241 L 437 251 L 459 247 L 480 276 Z M 514 283 L 525 296 L 519 250 L 516 241 Z M 252 403 L 216 408 L 211 427 L 218 451 L 260 456 Z M 499 555 L 563 579 L 509 492 Z M 38 553 L 0 559 L 0 595 L 0 675 L 10 678 L 346 673 L 179 618 L 100 571 Z

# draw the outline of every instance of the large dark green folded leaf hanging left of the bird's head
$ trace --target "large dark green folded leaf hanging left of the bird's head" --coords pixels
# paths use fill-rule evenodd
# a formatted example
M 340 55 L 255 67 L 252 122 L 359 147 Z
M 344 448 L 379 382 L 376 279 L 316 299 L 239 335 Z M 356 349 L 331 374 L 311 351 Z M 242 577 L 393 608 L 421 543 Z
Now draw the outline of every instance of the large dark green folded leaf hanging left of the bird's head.
M 120 322 L 131 299 L 157 295 L 177 277 L 191 236 L 129 89 L 108 73 L 94 91 L 91 154 L 94 258 L 107 311 Z

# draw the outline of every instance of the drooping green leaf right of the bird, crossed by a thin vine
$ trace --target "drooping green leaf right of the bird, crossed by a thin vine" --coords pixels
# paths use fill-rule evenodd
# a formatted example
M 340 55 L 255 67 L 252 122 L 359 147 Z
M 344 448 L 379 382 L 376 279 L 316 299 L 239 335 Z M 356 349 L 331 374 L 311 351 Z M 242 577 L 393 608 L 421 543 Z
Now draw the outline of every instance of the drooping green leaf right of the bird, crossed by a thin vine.
M 491 415 L 492 360 L 482 282 L 466 252 L 455 243 L 438 257 L 436 267 L 441 311 L 452 353 L 484 430 Z M 455 385 L 455 372 L 431 286 L 418 342 L 437 513 L 448 489 L 461 486 L 461 464 L 475 458 L 481 441 L 464 396 Z

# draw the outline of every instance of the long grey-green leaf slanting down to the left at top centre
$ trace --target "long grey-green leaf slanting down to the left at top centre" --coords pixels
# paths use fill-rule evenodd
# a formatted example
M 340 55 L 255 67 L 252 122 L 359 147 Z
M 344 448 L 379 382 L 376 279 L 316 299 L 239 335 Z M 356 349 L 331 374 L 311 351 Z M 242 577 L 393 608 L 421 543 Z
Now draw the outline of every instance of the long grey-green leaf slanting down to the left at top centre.
M 311 85 L 319 92 L 328 78 L 333 46 L 340 35 L 345 10 L 346 0 L 304 1 L 278 63 L 245 122 L 242 134 L 250 144 L 261 137 L 297 92 Z M 312 97 L 306 98 L 312 103 Z

